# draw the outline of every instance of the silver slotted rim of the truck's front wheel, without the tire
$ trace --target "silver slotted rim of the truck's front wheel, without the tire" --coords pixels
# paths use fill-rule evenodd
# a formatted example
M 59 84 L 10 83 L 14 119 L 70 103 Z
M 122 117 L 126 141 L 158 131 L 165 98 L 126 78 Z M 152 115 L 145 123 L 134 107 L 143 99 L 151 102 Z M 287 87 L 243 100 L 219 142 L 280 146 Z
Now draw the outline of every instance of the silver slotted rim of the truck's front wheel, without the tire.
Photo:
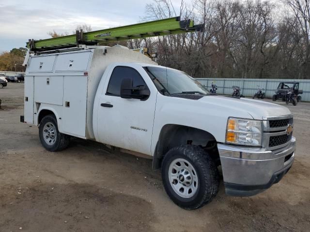
M 198 189 L 198 174 L 185 159 L 175 159 L 169 166 L 169 182 L 176 194 L 183 198 L 195 195 Z

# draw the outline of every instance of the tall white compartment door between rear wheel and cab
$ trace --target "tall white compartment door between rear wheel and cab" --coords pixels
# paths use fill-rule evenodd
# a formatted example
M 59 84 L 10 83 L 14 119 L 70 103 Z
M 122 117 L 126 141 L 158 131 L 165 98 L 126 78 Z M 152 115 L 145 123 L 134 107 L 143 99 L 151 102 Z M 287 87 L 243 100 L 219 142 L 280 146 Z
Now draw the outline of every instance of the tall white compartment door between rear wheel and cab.
M 80 138 L 86 136 L 87 78 L 63 78 L 62 131 Z

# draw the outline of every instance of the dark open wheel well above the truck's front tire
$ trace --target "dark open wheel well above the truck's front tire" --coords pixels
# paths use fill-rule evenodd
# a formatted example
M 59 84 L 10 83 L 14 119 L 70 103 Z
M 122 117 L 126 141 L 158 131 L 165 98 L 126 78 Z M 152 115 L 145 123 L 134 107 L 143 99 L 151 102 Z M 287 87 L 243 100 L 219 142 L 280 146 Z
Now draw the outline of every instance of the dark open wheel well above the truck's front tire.
M 178 124 L 166 124 L 162 127 L 155 146 L 153 169 L 159 169 L 165 154 L 172 148 L 182 145 L 198 145 L 214 150 L 214 159 L 219 160 L 215 136 L 202 129 Z

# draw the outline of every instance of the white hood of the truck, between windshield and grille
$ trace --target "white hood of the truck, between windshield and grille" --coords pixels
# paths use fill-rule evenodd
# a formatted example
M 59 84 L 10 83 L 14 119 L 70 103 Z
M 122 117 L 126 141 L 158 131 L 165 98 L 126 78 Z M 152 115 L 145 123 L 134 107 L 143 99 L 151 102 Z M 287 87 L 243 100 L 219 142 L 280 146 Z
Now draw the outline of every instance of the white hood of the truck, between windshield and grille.
M 198 101 L 208 104 L 214 104 L 214 107 L 223 109 L 231 109 L 231 112 L 240 111 L 240 115 L 248 113 L 253 119 L 262 120 L 263 116 L 283 116 L 291 115 L 291 111 L 284 106 L 253 100 L 248 98 L 230 98 L 224 96 L 205 96 Z M 242 113 L 241 113 L 242 112 Z M 231 115 L 232 117 L 240 117 L 239 115 Z

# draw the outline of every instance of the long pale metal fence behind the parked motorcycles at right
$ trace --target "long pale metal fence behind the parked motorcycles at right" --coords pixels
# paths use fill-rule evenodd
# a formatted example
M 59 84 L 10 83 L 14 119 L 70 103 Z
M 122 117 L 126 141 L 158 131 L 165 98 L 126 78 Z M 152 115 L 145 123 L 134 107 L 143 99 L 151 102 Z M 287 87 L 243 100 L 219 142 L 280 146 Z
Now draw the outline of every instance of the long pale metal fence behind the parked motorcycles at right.
M 305 79 L 237 79 L 237 78 L 196 78 L 207 89 L 211 89 L 211 83 L 217 85 L 218 94 L 230 95 L 233 92 L 233 86 L 239 86 L 241 94 L 251 97 L 257 90 L 257 86 L 263 88 L 267 98 L 272 98 L 280 82 L 299 82 L 299 90 L 302 101 L 310 101 L 310 80 Z

